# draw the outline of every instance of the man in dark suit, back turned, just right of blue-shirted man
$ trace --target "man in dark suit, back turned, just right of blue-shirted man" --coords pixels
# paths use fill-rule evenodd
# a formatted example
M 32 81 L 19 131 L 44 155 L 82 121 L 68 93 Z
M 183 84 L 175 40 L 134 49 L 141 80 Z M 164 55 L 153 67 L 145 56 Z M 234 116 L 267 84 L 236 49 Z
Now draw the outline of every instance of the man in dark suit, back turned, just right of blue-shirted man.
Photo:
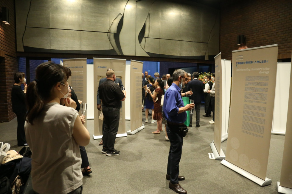
M 187 90 L 192 89 L 193 94 L 190 99 L 194 100 L 196 110 L 196 127 L 200 127 L 200 108 L 201 108 L 201 96 L 204 92 L 204 84 L 199 78 L 198 72 L 193 72 L 193 80 L 187 85 Z M 190 115 L 190 126 L 192 126 L 192 115 Z

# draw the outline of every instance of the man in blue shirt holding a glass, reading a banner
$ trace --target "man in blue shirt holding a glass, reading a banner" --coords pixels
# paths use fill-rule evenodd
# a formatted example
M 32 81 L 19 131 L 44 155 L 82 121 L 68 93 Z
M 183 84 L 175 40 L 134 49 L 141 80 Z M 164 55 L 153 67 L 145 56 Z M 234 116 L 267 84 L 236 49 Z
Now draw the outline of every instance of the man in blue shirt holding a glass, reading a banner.
M 170 180 L 168 187 L 176 193 L 187 193 L 178 181 L 184 180 L 184 176 L 179 174 L 179 161 L 181 160 L 181 152 L 183 145 L 183 137 L 178 134 L 178 128 L 184 125 L 187 120 L 186 111 L 190 111 L 195 107 L 195 104 L 184 106 L 181 98 L 181 88 L 187 82 L 187 73 L 184 70 L 178 69 L 173 72 L 173 83 L 167 89 L 164 95 L 163 112 L 167 120 L 166 131 L 170 139 L 170 149 L 168 153 L 167 174 L 166 179 Z

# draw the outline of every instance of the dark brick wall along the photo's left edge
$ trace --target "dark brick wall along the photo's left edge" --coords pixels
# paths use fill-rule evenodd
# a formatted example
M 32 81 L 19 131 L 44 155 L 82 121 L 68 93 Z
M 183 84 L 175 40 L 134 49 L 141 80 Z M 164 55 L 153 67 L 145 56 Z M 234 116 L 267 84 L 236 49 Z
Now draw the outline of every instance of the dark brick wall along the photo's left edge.
M 10 25 L 0 21 L 0 122 L 8 122 L 16 116 L 12 112 L 11 104 L 13 75 L 18 71 L 15 48 L 14 1 L 1 0 L 0 7 L 7 7 L 10 12 Z

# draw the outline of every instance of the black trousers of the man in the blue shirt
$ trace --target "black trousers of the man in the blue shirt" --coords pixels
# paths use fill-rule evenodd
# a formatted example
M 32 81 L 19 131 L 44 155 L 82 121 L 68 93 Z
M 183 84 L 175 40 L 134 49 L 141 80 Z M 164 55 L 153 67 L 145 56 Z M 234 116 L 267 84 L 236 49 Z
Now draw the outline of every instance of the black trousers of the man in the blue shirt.
M 175 130 L 181 125 L 170 125 L 167 123 L 166 132 L 170 140 L 170 148 L 168 152 L 167 174 L 170 175 L 170 183 L 178 184 L 179 162 L 181 161 L 183 137 L 179 136 Z

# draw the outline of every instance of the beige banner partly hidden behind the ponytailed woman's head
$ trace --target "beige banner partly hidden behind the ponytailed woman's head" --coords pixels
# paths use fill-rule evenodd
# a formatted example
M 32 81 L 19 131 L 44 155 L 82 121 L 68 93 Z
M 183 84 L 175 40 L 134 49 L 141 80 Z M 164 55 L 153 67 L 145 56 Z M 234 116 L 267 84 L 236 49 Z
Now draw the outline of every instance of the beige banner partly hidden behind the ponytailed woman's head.
M 81 100 L 82 103 L 87 103 L 86 61 L 87 61 L 86 58 L 63 59 L 63 66 L 68 67 L 72 72 L 72 75 L 68 79 L 68 83 L 74 89 L 74 92 L 78 100 Z M 82 115 L 81 111 L 82 103 L 80 104 L 80 111 L 78 112 L 79 116 Z M 84 126 L 86 127 L 86 122 L 84 123 Z

